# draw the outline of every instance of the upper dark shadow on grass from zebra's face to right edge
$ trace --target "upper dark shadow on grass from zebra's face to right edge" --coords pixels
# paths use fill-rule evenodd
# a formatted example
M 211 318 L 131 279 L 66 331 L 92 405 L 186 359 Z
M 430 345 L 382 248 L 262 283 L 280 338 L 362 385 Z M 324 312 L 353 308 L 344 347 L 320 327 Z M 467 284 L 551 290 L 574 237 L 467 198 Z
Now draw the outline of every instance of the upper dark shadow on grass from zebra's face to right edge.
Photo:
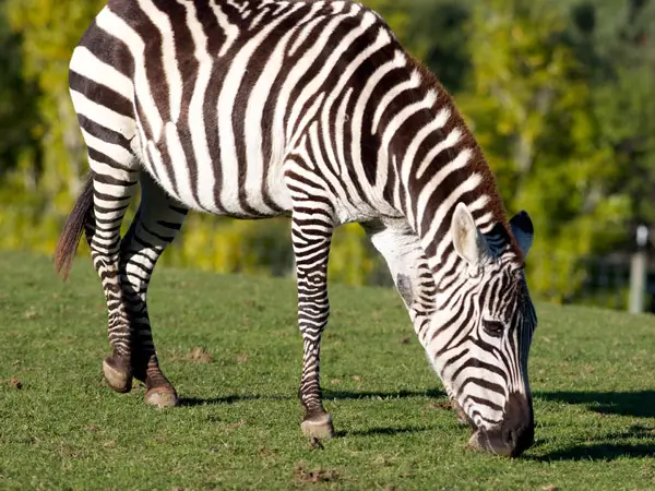
M 535 392 L 545 400 L 580 404 L 602 415 L 655 418 L 655 391 L 639 392 Z

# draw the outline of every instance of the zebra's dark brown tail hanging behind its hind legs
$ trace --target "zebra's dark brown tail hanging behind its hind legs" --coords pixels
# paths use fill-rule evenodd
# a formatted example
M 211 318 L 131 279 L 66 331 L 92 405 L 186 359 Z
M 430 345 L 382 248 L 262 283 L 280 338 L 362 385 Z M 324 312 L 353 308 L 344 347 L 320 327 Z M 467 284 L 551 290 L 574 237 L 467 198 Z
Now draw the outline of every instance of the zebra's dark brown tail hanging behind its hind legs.
M 88 172 L 86 176 L 86 182 L 73 209 L 71 209 L 68 216 L 59 242 L 57 242 L 57 249 L 55 249 L 55 267 L 58 274 L 63 276 L 63 279 L 68 279 L 69 272 L 73 265 L 75 253 L 78 252 L 78 246 L 84 231 L 84 225 L 91 216 L 93 207 L 93 176 Z

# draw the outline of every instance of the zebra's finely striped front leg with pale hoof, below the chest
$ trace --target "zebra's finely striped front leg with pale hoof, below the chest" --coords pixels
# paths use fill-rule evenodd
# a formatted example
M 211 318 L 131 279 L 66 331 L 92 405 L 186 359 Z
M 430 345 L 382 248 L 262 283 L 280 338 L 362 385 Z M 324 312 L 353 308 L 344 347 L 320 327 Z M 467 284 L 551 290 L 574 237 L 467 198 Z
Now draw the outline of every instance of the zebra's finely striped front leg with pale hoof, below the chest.
M 327 324 L 327 258 L 333 225 L 322 214 L 294 214 L 291 240 L 298 283 L 298 326 L 302 335 L 300 403 L 305 410 L 302 432 L 312 439 L 334 435 L 332 417 L 323 408 L 319 363 L 321 335 Z

